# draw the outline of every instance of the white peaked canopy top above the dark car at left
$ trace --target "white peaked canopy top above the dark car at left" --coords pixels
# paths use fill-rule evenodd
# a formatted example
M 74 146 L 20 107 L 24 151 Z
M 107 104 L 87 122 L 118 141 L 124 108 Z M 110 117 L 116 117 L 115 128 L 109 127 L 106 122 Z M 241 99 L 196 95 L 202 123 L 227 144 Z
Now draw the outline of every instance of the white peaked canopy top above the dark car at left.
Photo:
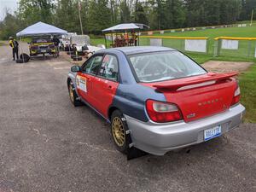
M 56 26 L 39 21 L 38 23 L 27 26 L 21 32 L 16 33 L 17 37 L 43 36 L 43 35 L 67 35 L 67 31 Z

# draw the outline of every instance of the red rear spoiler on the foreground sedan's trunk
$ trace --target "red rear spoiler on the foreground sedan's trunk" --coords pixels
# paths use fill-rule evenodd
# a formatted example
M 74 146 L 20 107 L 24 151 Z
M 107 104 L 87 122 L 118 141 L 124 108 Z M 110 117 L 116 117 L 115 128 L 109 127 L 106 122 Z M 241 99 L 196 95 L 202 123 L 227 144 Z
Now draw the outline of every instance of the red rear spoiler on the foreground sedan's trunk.
M 158 90 L 178 90 L 179 88 L 183 88 L 189 85 L 196 85 L 201 84 L 199 86 L 208 85 L 207 82 L 213 82 L 213 84 L 216 84 L 218 82 L 224 81 L 226 79 L 230 79 L 231 77 L 236 76 L 238 73 L 232 72 L 232 73 L 207 73 L 205 77 L 191 77 L 188 79 L 175 79 L 168 84 L 154 84 L 153 86 Z M 205 83 L 205 84 L 204 84 Z M 193 86 L 189 87 L 194 88 Z

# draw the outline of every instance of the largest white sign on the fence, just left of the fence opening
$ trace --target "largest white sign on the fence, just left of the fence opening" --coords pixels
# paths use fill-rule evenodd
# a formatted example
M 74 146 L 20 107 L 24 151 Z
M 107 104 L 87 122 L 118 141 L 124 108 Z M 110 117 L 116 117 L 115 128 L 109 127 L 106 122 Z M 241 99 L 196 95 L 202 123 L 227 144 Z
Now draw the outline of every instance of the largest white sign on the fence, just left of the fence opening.
M 185 50 L 207 52 L 207 39 L 185 39 Z

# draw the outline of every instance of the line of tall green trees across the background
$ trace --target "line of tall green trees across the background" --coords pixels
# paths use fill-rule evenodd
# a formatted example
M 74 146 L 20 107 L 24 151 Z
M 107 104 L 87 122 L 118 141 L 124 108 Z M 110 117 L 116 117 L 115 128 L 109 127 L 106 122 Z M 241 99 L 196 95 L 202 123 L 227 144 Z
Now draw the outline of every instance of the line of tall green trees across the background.
M 79 9 L 83 32 L 100 34 L 126 22 L 152 30 L 232 24 L 250 20 L 256 0 L 20 0 L 15 14 L 6 13 L 0 21 L 0 38 L 38 21 L 80 33 Z

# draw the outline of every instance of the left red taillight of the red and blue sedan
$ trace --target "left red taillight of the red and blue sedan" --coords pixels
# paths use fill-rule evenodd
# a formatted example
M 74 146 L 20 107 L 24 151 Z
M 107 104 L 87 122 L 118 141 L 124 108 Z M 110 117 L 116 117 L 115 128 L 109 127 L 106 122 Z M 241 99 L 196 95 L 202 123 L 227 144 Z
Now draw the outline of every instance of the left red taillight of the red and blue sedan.
M 146 108 L 149 118 L 157 123 L 166 123 L 183 119 L 179 108 L 173 103 L 148 100 L 146 102 Z

